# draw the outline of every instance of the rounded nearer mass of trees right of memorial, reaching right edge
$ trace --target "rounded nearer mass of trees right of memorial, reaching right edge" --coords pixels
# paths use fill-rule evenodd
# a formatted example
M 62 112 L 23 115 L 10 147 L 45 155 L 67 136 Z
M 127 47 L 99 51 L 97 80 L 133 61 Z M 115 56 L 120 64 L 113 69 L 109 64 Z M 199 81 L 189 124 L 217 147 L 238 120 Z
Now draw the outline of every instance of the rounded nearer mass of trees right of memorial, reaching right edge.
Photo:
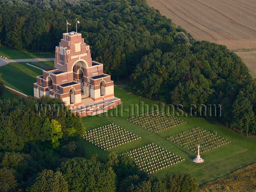
M 155 49 L 142 58 L 131 78 L 138 94 L 182 104 L 188 112 L 205 111 L 206 117 L 212 113 L 247 135 L 256 131 L 256 80 L 225 46 L 201 41 L 174 45 L 172 52 Z M 216 116 L 208 107 L 214 104 L 221 106 Z

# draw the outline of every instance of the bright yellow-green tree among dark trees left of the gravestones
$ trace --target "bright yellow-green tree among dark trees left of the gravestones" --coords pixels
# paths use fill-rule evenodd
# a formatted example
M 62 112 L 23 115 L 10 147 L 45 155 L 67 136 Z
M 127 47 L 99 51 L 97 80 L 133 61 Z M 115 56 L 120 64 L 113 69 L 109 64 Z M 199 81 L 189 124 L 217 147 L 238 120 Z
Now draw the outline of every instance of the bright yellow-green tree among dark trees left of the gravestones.
M 52 148 L 57 148 L 60 145 L 59 139 L 62 138 L 61 125 L 55 119 L 52 119 L 51 124 L 51 140 L 52 140 Z

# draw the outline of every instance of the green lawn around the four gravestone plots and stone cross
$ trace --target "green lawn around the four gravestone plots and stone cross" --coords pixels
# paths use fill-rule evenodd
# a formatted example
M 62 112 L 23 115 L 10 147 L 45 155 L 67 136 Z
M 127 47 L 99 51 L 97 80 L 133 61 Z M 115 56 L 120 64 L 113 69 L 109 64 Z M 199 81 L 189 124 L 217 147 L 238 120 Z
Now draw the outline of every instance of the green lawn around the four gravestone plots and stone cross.
M 161 177 L 168 172 L 189 172 L 199 183 L 234 168 L 240 167 L 241 165 L 252 162 L 256 159 L 255 137 L 247 138 L 246 136 L 234 132 L 222 124 L 212 121 L 211 119 L 207 120 L 203 117 L 189 116 L 177 116 L 178 119 L 183 120 L 183 124 L 154 133 L 145 129 L 145 127 L 141 127 L 139 124 L 135 124 L 127 120 L 132 116 L 130 116 L 130 112 L 124 111 L 127 111 L 127 109 L 130 111 L 130 105 L 140 105 L 140 102 L 144 102 L 144 104 L 152 106 L 153 104 L 157 104 L 156 101 L 139 97 L 138 95 L 134 95 L 131 92 L 127 92 L 126 90 L 116 86 L 115 96 L 121 98 L 121 100 L 124 102 L 123 116 L 110 117 L 107 116 L 107 113 L 104 113 L 104 115 L 101 114 L 100 116 L 83 117 L 82 121 L 85 124 L 86 130 L 90 131 L 92 129 L 114 123 L 141 138 L 114 148 L 110 148 L 108 150 L 101 149 L 95 144 L 92 144 L 85 139 L 81 139 L 80 141 L 86 148 L 88 158 L 97 153 L 97 156 L 101 161 L 107 161 L 109 153 L 116 152 L 119 155 L 122 155 L 132 150 L 137 150 L 138 148 L 145 148 L 145 146 L 154 143 L 154 145 L 157 145 L 157 147 L 164 148 L 164 150 L 167 150 L 171 154 L 185 160 L 182 162 L 180 161 L 177 164 L 167 166 L 164 169 L 157 170 L 156 172 L 152 172 L 152 174 Z M 134 100 L 131 101 L 131 99 Z M 121 111 L 120 108 L 121 106 L 119 106 L 117 109 Z M 116 109 L 109 110 L 109 114 L 113 113 L 116 113 Z M 204 163 L 202 164 L 196 164 L 192 161 L 196 157 L 195 151 L 188 150 L 183 146 L 168 140 L 171 136 L 180 134 L 181 132 L 188 132 L 198 127 L 200 127 L 205 134 L 207 132 L 207 134 L 211 134 L 213 137 L 215 137 L 217 132 L 218 138 L 224 138 L 222 140 L 228 142 L 227 144 L 223 145 L 220 143 L 220 146 L 212 150 L 205 151 L 204 153 L 202 153 L 202 151 L 201 157 L 204 159 Z M 217 144 L 218 142 L 216 142 L 216 145 L 219 145 Z

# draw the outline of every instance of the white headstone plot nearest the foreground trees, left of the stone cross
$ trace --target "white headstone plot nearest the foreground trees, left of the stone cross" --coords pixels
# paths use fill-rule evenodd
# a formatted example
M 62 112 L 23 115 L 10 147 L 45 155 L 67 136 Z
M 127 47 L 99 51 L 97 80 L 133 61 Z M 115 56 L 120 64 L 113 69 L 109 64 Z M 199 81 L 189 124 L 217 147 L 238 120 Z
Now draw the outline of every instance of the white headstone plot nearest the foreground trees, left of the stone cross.
M 159 171 L 185 160 L 154 143 L 129 151 L 127 154 L 134 159 L 141 171 L 147 173 Z

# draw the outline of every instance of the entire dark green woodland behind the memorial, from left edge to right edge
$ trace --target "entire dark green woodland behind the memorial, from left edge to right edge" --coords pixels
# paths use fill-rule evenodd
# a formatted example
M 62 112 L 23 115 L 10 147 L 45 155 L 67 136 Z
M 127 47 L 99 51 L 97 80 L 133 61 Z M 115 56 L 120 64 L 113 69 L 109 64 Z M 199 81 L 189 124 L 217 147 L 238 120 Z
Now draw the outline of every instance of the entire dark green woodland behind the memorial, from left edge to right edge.
M 145 0 L 4 0 L 0 38 L 12 47 L 52 50 L 66 31 L 66 19 L 71 31 L 76 18 L 105 73 L 130 76 L 138 94 L 182 104 L 184 110 L 219 104 L 216 119 L 255 133 L 256 82 L 242 60 L 225 46 L 196 41 Z

